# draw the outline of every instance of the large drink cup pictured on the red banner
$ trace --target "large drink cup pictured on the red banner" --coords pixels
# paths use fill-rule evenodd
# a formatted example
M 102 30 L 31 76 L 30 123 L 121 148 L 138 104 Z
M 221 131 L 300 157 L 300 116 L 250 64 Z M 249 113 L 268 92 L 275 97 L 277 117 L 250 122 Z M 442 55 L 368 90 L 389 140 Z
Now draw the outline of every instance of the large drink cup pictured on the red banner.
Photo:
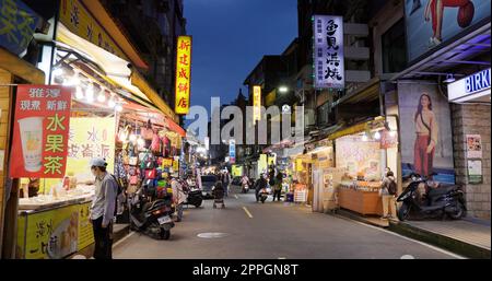
M 24 168 L 32 173 L 39 172 L 43 167 L 43 119 L 44 117 L 27 117 L 17 120 Z

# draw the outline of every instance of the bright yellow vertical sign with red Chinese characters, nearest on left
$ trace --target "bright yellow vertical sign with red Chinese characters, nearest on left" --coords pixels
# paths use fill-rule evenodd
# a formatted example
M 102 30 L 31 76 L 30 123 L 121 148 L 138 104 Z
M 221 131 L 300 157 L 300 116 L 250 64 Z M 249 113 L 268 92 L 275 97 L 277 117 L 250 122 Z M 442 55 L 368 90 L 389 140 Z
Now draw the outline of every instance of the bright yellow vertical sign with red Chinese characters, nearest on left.
M 176 114 L 188 114 L 190 102 L 191 36 L 179 36 L 176 59 Z

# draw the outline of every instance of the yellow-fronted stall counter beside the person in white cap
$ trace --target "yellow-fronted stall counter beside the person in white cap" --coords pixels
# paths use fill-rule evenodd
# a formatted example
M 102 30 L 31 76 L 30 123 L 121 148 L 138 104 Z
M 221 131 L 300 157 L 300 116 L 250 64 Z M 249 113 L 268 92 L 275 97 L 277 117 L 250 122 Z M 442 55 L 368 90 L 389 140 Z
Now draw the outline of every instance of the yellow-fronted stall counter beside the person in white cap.
M 49 196 L 22 198 L 16 257 L 59 259 L 93 244 L 89 212 L 94 194 L 87 190 L 89 186 L 56 200 Z

